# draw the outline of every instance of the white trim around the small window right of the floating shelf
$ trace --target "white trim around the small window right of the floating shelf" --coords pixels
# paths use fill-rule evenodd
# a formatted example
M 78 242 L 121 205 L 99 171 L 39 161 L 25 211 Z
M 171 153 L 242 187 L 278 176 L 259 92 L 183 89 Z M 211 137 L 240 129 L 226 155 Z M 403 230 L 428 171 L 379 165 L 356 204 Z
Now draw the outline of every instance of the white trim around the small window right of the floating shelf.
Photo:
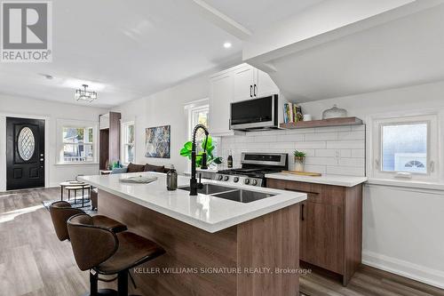
M 415 114 L 392 113 L 369 117 L 369 157 L 367 159 L 369 178 L 375 180 L 392 180 L 397 182 L 439 182 L 440 181 L 440 113 L 432 111 Z M 408 178 L 402 178 L 399 172 L 382 170 L 382 136 L 383 126 L 397 124 L 427 124 L 427 173 L 409 172 Z M 433 167 L 431 171 L 430 168 Z

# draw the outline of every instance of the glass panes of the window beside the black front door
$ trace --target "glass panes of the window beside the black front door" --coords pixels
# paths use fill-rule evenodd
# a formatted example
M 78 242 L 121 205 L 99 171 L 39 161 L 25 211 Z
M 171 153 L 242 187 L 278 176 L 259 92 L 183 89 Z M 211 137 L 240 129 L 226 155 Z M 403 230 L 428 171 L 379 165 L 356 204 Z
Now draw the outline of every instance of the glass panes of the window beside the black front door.
M 94 132 L 92 127 L 63 126 L 63 163 L 94 161 Z

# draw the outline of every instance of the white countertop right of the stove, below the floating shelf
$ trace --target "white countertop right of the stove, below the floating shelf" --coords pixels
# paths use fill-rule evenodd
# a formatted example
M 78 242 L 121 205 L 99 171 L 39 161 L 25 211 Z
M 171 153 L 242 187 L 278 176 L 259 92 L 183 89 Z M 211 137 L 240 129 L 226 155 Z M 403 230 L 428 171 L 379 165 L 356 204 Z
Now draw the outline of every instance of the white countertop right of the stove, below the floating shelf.
M 266 174 L 266 178 L 269 179 L 279 179 L 279 180 L 292 180 L 298 182 L 325 184 L 325 185 L 336 185 L 344 187 L 353 187 L 358 184 L 364 183 L 368 180 L 367 177 L 353 177 L 353 176 L 343 176 L 343 175 L 321 175 L 319 177 L 312 176 L 300 176 L 288 172 L 276 172 Z

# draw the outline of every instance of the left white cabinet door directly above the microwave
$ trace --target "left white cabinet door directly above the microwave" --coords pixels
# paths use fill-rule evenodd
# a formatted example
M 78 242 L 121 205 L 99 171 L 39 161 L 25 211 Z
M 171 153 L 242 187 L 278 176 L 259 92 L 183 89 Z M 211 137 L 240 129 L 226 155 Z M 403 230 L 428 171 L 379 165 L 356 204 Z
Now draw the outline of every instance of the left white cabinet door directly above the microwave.
M 245 65 L 234 69 L 234 101 L 253 98 L 254 79 L 257 68 Z

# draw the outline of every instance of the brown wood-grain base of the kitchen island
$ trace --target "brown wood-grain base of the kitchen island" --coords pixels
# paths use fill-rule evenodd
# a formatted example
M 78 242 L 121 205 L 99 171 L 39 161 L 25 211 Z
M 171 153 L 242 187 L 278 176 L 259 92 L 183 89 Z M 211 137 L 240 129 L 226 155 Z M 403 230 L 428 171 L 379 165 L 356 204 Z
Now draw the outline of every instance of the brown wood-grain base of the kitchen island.
M 300 212 L 293 204 L 210 233 L 99 190 L 99 214 L 166 251 L 131 270 L 143 295 L 298 296 Z

